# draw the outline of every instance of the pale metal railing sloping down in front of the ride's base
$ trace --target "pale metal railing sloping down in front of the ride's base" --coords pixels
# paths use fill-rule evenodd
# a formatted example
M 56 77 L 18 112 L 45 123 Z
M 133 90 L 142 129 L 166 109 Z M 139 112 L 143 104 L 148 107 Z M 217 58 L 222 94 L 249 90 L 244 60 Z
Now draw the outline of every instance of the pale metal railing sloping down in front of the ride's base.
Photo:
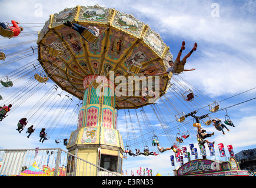
M 60 148 L 0 150 L 0 176 L 121 176 Z

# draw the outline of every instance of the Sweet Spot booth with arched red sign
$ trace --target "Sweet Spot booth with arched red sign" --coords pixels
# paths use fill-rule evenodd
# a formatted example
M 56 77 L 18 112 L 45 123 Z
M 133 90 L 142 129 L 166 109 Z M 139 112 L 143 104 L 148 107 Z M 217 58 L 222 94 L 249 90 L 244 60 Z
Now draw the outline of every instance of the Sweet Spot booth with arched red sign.
M 249 173 L 247 170 L 241 170 L 237 160 L 230 157 L 228 162 L 191 160 L 174 170 L 174 176 L 249 176 Z

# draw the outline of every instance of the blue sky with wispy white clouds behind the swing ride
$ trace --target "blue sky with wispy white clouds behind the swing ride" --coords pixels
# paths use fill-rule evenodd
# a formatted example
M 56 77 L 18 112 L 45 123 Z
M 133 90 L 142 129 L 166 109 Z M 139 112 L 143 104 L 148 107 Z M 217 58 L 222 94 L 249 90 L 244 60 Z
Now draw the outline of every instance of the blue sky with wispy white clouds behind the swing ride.
M 198 95 L 199 93 L 203 93 L 207 99 L 212 99 L 213 101 L 222 100 L 220 106 L 223 109 L 232 106 L 227 110 L 228 116 L 231 117 L 235 124 L 235 127 L 229 127 L 230 132 L 226 131 L 225 135 L 222 135 L 221 132 L 218 132 L 212 126 L 204 126 L 207 132 L 215 132 L 215 135 L 209 140 L 215 141 L 216 157 L 220 159 L 217 143 L 224 143 L 227 155 L 227 145 L 233 145 L 235 153 L 243 149 L 252 149 L 255 147 L 255 101 L 250 100 L 249 102 L 244 102 L 255 98 L 256 93 L 255 89 L 252 89 L 255 88 L 256 83 L 255 1 L 25 1 L 20 3 L 17 1 L 4 0 L 0 2 L 2 5 L 0 11 L 1 21 L 11 22 L 11 19 L 14 19 L 20 23 L 45 23 L 50 14 L 58 13 L 66 7 L 71 8 L 76 5 L 87 6 L 98 4 L 99 6 L 107 8 L 115 8 L 120 12 L 134 15 L 139 21 L 148 24 L 151 29 L 159 33 L 164 42 L 167 43 L 167 46 L 170 47 L 174 59 L 177 56 L 182 41 L 186 42 L 186 48 L 182 56 L 191 50 L 194 42 L 197 42 L 197 51 L 192 53 L 185 65 L 186 69 L 196 68 L 196 70 L 184 72 L 179 76 L 189 82 L 197 90 Z M 38 14 L 39 7 L 42 8 L 42 15 Z M 12 11 L 9 11 L 10 9 Z M 30 32 L 40 31 L 42 25 L 44 24 L 35 28 L 31 27 L 35 25 L 24 24 L 23 26 L 28 27 L 26 31 Z M 0 50 L 5 48 L 6 45 L 15 45 L 16 43 L 34 39 L 36 40 L 36 35 L 23 36 L 15 39 L 1 38 Z M 14 51 L 21 51 L 23 48 L 29 48 L 30 46 L 36 46 L 36 42 L 14 48 L 12 49 L 13 51 L 6 49 L 5 52 L 9 54 Z M 12 72 L 12 70 L 18 69 L 27 62 L 36 61 L 36 59 L 37 55 L 33 55 L 19 61 L 17 60 L 10 65 L 1 66 L 0 77 L 2 78 L 2 76 Z M 0 63 L 6 63 L 6 61 L 1 61 Z M 179 76 L 175 78 L 181 80 Z M 172 80 L 171 83 L 175 83 L 175 80 Z M 17 85 L 18 84 L 19 83 L 17 83 Z M 49 82 L 49 84 L 44 86 L 43 90 L 46 92 L 51 87 L 51 82 Z M 177 87 L 181 89 L 180 85 L 177 85 Z M 13 92 L 14 89 L 15 86 L 11 89 L 8 88 L 8 90 L 1 89 L 1 92 Z M 247 90 L 250 91 L 245 92 Z M 171 91 L 168 93 L 170 97 L 172 96 Z M 61 91 L 58 90 L 58 92 Z M 39 95 L 43 96 L 44 92 L 36 93 L 31 96 L 31 98 L 22 104 L 21 108 L 15 109 L 8 118 L 1 122 L 1 149 L 35 147 L 62 147 L 62 149 L 65 149 L 64 146 L 56 145 L 54 139 L 48 140 L 48 142 L 45 142 L 42 146 L 41 143 L 38 142 L 36 135 L 31 136 L 30 139 L 26 139 L 25 133 L 21 135 L 15 130 L 16 122 L 18 122 L 20 116 L 24 116 L 29 112 L 32 106 L 34 106 L 31 104 L 37 101 Z M 231 96 L 234 97 L 230 98 Z M 175 98 L 175 101 L 176 100 L 178 101 L 177 98 Z M 203 99 L 200 101 L 205 104 L 207 103 L 206 100 Z M 69 112 L 72 112 L 78 102 L 79 101 L 74 98 L 72 108 L 69 108 Z M 4 103 L 5 102 L 2 100 L 1 105 Z M 238 103 L 241 104 L 236 105 Z M 161 106 L 161 104 L 160 102 L 159 106 Z M 186 112 L 188 112 L 188 106 L 189 105 L 184 108 Z M 162 114 L 165 114 L 164 110 L 166 109 L 164 109 L 163 106 L 161 106 L 160 110 Z M 145 111 L 153 125 L 153 129 L 156 130 L 156 133 L 161 135 L 159 136 L 161 145 L 164 147 L 171 146 L 172 143 L 169 142 L 167 134 L 164 132 L 165 127 L 162 127 L 161 123 L 156 120 L 157 118 L 150 106 L 145 108 Z M 128 111 L 126 112 L 128 113 Z M 130 112 L 133 124 L 137 126 L 138 122 L 136 120 L 135 110 L 130 110 Z M 139 110 L 137 110 L 137 113 L 139 113 Z M 218 117 L 224 120 L 225 115 L 226 111 L 220 110 L 217 113 L 211 114 L 211 117 Z M 173 115 L 169 117 L 166 115 L 165 117 L 169 122 L 172 122 L 175 118 Z M 125 128 L 125 116 L 123 115 L 123 111 L 118 112 L 118 118 L 118 129 L 123 135 L 124 145 L 126 145 L 125 139 L 127 137 L 127 130 Z M 129 123 L 129 116 L 127 116 L 127 120 Z M 143 122 L 140 123 L 143 124 Z M 171 129 L 172 127 L 177 127 L 177 125 L 178 124 L 174 122 L 169 123 L 167 127 Z M 188 149 L 188 145 L 194 143 L 199 149 L 197 140 L 195 139 L 195 128 L 192 127 L 192 123 L 182 126 L 181 129 L 191 130 L 191 137 L 185 140 L 183 146 L 187 146 Z M 58 136 L 58 130 L 61 129 L 56 127 L 56 132 L 54 132 L 53 135 Z M 177 131 L 177 129 L 174 130 L 172 136 L 176 135 Z M 142 136 L 139 133 L 138 126 L 136 127 L 135 135 L 138 136 L 137 140 L 141 141 Z M 151 141 L 148 141 L 148 145 L 151 145 Z M 143 145 L 140 145 L 140 147 L 142 150 Z M 154 149 L 156 148 L 152 148 L 152 150 Z M 135 148 L 132 148 L 132 150 L 135 151 Z M 209 155 L 208 148 L 206 148 L 206 150 Z M 173 152 L 165 152 L 159 156 L 128 156 L 128 159 L 123 162 L 123 170 L 128 170 L 128 173 L 130 173 L 131 170 L 135 172 L 139 167 L 148 167 L 153 170 L 153 174 L 159 172 L 165 176 L 167 176 L 168 173 L 172 175 L 172 169 L 174 169 L 174 167 L 170 164 L 169 156 L 173 154 Z M 191 157 L 191 159 L 194 158 Z M 211 159 L 211 157 L 208 156 L 208 159 Z M 187 159 L 184 161 L 187 162 Z

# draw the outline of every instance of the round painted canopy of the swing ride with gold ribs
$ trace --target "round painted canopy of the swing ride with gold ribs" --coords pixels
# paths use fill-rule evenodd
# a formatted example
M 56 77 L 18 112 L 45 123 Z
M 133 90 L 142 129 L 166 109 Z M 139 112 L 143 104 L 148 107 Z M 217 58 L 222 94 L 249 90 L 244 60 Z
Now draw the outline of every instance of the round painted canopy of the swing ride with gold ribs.
M 96 26 L 102 33 L 95 40 L 88 38 L 86 41 L 77 31 L 63 25 L 67 21 L 85 28 Z M 79 99 L 84 98 L 86 76 L 109 79 L 112 72 L 114 78 L 125 76 L 128 80 L 128 76 L 145 76 L 148 79 L 167 70 L 168 61 L 172 59 L 169 47 L 148 25 L 131 14 L 98 5 L 78 5 L 51 15 L 39 32 L 37 43 L 38 61 L 48 77 Z M 166 93 L 169 79 L 169 75 L 159 78 L 159 96 Z M 129 88 L 127 83 L 127 88 L 135 86 Z M 155 90 L 154 82 L 152 90 Z M 148 104 L 141 93 L 115 99 L 117 109 Z

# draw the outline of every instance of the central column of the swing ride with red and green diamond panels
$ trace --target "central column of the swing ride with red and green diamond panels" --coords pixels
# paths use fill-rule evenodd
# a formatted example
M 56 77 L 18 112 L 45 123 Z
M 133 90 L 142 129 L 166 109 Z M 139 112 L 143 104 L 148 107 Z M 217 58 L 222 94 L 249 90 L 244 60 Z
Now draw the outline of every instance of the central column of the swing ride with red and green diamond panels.
M 99 82 L 99 84 L 97 83 Z M 84 78 L 84 99 L 79 110 L 78 129 L 71 133 L 68 152 L 121 174 L 124 144 L 117 130 L 115 86 L 105 76 L 89 75 Z M 69 159 L 67 173 L 73 176 L 102 176 L 102 172 Z M 86 174 L 86 175 L 85 175 Z

